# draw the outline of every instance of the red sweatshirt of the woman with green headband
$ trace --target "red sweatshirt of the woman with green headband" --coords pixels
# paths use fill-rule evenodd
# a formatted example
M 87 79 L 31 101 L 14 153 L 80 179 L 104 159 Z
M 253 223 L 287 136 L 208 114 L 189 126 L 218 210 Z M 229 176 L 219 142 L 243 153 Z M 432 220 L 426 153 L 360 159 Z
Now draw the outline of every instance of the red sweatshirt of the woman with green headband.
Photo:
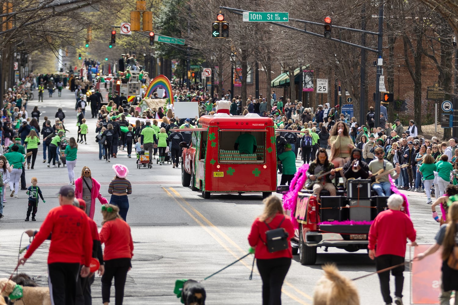
M 114 258 L 132 258 L 134 255 L 131 227 L 124 220 L 116 218 L 104 223 L 99 237 L 100 242 L 105 243 L 105 261 Z

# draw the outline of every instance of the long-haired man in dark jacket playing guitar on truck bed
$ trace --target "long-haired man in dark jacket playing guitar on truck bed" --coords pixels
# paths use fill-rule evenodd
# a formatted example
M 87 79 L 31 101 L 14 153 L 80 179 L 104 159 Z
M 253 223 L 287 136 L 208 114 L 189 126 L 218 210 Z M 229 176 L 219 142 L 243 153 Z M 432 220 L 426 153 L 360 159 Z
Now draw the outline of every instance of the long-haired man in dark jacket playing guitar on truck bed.
M 306 176 L 310 180 L 316 180 L 316 176 L 327 171 L 330 172 L 329 175 L 321 177 L 320 182 L 313 185 L 313 193 L 317 200 L 320 198 L 320 192 L 323 188 L 329 192 L 330 196 L 336 196 L 336 188 L 331 182 L 335 175 L 334 164 L 327 159 L 326 150 L 320 148 L 315 161 L 310 163 Z

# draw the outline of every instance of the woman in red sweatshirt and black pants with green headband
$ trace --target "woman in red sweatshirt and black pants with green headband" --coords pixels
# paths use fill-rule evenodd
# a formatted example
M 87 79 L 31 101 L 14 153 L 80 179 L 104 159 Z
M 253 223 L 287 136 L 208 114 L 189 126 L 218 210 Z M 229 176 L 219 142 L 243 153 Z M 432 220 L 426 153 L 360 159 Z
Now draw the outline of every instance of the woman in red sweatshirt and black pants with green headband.
M 105 273 L 102 276 L 102 302 L 110 302 L 111 281 L 114 277 L 114 304 L 122 305 L 127 272 L 131 270 L 131 258 L 134 255 L 131 228 L 118 214 L 119 208 L 113 204 L 102 206 L 102 230 L 100 242 L 105 244 Z

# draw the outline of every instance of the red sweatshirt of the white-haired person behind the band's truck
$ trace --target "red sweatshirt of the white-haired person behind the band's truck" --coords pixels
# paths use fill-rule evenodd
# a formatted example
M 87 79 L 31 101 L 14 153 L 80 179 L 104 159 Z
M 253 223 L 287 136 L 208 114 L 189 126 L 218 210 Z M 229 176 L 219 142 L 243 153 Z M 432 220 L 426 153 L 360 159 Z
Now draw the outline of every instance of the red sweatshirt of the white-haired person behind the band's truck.
M 392 254 L 405 257 L 407 238 L 415 241 L 414 224 L 402 211 L 388 209 L 374 219 L 369 230 L 369 249 L 376 249 L 376 257 Z

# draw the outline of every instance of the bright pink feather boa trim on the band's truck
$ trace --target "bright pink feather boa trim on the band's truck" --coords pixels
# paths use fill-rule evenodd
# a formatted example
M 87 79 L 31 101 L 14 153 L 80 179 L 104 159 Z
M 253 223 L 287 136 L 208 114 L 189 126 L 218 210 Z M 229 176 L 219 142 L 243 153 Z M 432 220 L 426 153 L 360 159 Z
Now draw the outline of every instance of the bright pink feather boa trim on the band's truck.
M 283 195 L 283 208 L 285 210 L 291 211 L 291 221 L 293 222 L 294 228 L 298 228 L 299 223 L 297 222 L 294 214 L 296 212 L 296 203 L 297 203 L 297 193 L 304 187 L 305 181 L 307 180 L 307 176 L 305 175 L 306 171 L 309 169 L 308 164 L 304 164 L 300 166 L 300 168 L 295 173 L 291 183 L 289 183 L 289 192 Z M 401 193 L 393 183 L 393 180 L 390 176 L 388 176 L 391 183 L 391 191 L 395 194 L 401 195 L 404 199 L 403 207 L 404 212 L 410 217 L 409 213 L 409 201 L 407 201 L 407 197 Z M 335 222 L 333 222 L 335 223 Z M 344 222 L 343 222 L 344 224 Z M 346 224 L 346 223 L 345 223 Z

